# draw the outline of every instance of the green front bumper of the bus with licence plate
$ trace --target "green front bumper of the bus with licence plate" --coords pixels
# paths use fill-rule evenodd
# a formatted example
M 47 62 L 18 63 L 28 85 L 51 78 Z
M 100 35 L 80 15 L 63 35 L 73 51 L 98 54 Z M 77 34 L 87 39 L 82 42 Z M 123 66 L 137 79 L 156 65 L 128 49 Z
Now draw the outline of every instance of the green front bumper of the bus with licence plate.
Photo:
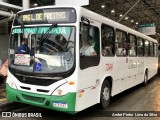
M 6 93 L 10 101 L 22 102 L 70 114 L 75 113 L 76 93 L 68 93 L 64 96 L 34 94 L 13 89 L 8 84 L 6 84 Z

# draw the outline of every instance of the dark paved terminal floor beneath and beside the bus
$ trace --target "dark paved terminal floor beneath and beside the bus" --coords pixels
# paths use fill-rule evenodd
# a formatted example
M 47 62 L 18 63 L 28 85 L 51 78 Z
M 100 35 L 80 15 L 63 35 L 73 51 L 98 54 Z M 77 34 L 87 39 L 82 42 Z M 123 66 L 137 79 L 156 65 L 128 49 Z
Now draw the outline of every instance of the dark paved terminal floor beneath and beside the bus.
M 24 104 L 22 104 L 23 106 Z M 160 117 L 107 117 L 108 111 L 156 111 L 160 112 L 160 74 L 152 78 L 147 86 L 138 85 L 131 88 L 111 99 L 110 106 L 99 114 L 101 109 L 98 105 L 94 105 L 77 115 L 68 115 L 63 112 L 52 111 L 43 109 L 35 106 L 26 105 L 22 107 L 19 105 L 18 108 L 12 110 L 12 112 L 46 112 L 51 113 L 50 118 L 54 120 L 160 120 Z M 5 119 L 5 118 L 2 118 Z M 1 120 L 2 120 L 1 119 Z M 22 118 L 7 118 L 7 120 L 22 119 Z M 28 118 L 23 118 L 28 119 Z M 42 118 L 33 118 L 34 120 L 45 120 Z

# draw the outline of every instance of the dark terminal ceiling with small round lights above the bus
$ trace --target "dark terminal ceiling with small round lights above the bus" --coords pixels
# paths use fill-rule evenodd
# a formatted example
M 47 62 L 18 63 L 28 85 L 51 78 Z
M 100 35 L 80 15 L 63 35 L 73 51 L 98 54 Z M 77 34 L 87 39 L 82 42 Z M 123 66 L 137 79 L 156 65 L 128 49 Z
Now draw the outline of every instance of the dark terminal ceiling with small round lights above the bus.
M 138 0 L 90 0 L 90 5 L 85 8 L 120 22 L 128 27 L 137 29 L 138 24 L 155 23 L 156 32 L 160 33 L 160 0 L 140 0 L 139 3 L 120 21 L 120 15 L 124 15 Z M 22 6 L 22 0 L 8 0 L 10 4 Z M 38 6 L 54 5 L 54 0 L 30 0 L 31 7 L 34 3 Z M 102 8 L 101 6 L 105 7 Z M 1 10 L 14 11 L 16 9 L 0 6 Z M 115 12 L 111 12 L 114 10 Z M 3 17 L 1 17 L 3 18 Z

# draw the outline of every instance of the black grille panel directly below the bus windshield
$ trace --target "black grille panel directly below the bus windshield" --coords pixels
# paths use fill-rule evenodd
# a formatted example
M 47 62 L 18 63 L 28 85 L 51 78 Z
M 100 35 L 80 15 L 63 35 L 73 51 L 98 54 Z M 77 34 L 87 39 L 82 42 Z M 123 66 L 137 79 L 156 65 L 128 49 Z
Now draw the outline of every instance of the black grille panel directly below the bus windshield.
M 54 79 L 30 78 L 30 77 L 23 77 L 18 75 L 15 75 L 15 77 L 22 83 L 30 84 L 30 85 L 40 85 L 40 86 L 49 86 L 58 81 Z

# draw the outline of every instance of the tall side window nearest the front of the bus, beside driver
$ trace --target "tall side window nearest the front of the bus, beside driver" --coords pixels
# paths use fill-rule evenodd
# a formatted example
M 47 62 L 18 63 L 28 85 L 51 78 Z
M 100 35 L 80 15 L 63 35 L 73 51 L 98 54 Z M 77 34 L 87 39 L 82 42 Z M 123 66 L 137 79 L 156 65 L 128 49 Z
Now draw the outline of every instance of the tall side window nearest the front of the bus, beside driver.
M 85 23 L 80 28 L 82 28 L 79 36 L 80 68 L 98 66 L 100 62 L 99 28 Z

